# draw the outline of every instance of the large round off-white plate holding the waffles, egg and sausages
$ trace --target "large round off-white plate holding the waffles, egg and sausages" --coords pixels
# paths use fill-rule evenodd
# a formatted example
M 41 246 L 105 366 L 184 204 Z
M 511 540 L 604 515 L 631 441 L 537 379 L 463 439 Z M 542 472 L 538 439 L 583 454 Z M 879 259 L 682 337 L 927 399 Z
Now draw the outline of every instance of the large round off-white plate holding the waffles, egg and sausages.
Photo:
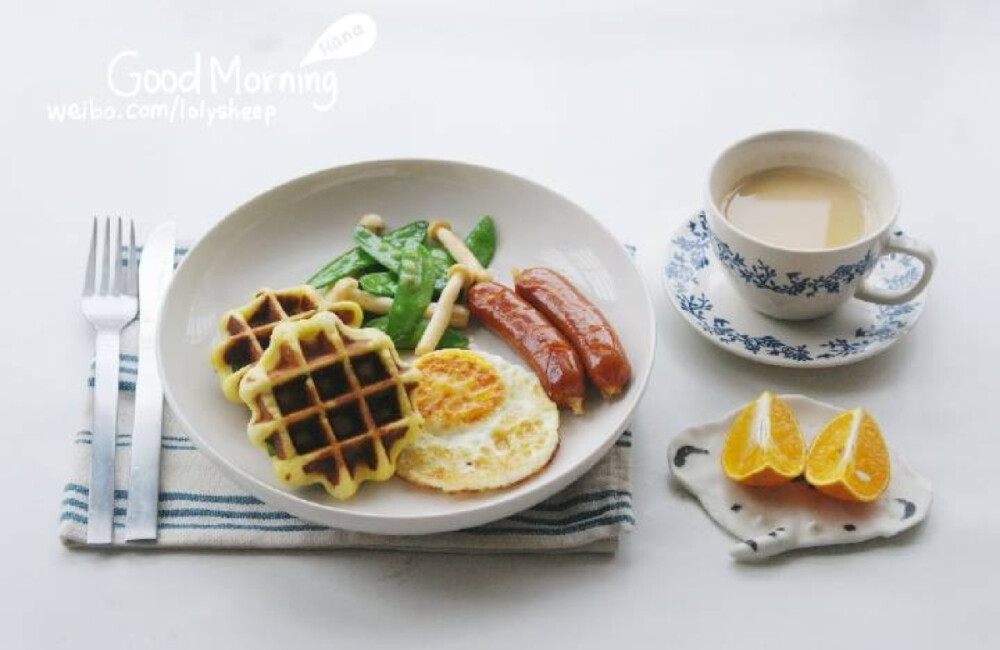
M 615 325 L 633 380 L 614 402 L 591 397 L 587 413 L 563 412 L 561 444 L 551 465 L 507 491 L 449 496 L 398 479 L 369 482 L 338 502 L 322 489 L 275 479 L 271 462 L 247 440 L 248 412 L 227 401 L 209 364 L 224 311 L 262 286 L 303 283 L 354 245 L 358 217 L 381 214 L 390 226 L 444 218 L 459 233 L 493 215 L 499 246 L 491 265 L 510 283 L 514 267 L 565 273 Z M 480 327 L 473 346 L 519 362 Z M 487 523 L 528 508 L 582 476 L 611 447 L 649 378 L 656 345 L 646 286 L 628 254 L 580 207 L 530 181 L 473 165 L 398 160 L 360 163 L 299 178 L 251 200 L 223 219 L 177 269 L 163 305 L 157 342 L 165 393 L 198 448 L 232 480 L 269 505 L 320 524 L 372 533 L 421 534 Z

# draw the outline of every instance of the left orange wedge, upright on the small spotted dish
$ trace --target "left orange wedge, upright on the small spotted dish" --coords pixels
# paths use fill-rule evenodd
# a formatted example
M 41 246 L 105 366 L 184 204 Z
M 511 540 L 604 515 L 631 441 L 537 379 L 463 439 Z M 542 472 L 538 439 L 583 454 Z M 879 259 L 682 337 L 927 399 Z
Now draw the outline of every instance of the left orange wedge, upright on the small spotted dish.
M 746 485 L 780 485 L 802 473 L 806 441 L 795 413 L 764 391 L 737 416 L 722 449 L 726 476 Z

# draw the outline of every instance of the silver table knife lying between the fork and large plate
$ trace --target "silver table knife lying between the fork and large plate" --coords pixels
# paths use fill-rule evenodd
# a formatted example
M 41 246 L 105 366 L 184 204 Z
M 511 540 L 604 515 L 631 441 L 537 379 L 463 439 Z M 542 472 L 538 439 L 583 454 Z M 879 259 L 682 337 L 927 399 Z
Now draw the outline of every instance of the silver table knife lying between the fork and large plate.
M 168 221 L 150 234 L 139 258 L 139 372 L 125 515 L 127 541 L 156 539 L 163 424 L 163 385 L 156 361 L 156 327 L 173 272 L 174 223 Z

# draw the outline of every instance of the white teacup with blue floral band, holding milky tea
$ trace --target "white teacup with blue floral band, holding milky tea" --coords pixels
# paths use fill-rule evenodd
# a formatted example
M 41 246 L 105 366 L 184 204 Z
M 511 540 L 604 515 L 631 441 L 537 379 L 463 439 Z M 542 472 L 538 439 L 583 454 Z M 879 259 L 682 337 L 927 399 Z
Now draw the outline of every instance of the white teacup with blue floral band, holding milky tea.
M 865 197 L 870 223 L 864 235 L 833 248 L 775 245 L 736 227 L 724 213 L 727 197 L 754 174 L 806 168 L 847 180 Z M 851 297 L 897 305 L 920 294 L 934 273 L 930 246 L 896 227 L 899 195 L 885 163 L 866 147 L 819 131 L 773 131 L 741 140 L 712 165 L 706 215 L 713 249 L 737 293 L 757 311 L 784 320 L 829 314 Z M 867 276 L 879 257 L 912 255 L 923 263 L 920 279 L 905 291 L 875 286 Z

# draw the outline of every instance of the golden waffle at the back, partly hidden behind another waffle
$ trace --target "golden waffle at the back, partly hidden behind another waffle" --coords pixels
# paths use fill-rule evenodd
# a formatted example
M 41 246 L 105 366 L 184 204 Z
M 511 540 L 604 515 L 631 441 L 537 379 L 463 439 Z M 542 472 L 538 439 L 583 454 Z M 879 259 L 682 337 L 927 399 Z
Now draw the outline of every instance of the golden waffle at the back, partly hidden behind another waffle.
M 360 326 L 364 317 L 357 303 L 326 301 L 307 284 L 261 289 L 249 303 L 226 312 L 220 323 L 222 342 L 212 350 L 212 365 L 226 397 L 240 401 L 240 380 L 264 354 L 278 323 L 303 320 L 321 310 L 333 312 L 351 327 Z

